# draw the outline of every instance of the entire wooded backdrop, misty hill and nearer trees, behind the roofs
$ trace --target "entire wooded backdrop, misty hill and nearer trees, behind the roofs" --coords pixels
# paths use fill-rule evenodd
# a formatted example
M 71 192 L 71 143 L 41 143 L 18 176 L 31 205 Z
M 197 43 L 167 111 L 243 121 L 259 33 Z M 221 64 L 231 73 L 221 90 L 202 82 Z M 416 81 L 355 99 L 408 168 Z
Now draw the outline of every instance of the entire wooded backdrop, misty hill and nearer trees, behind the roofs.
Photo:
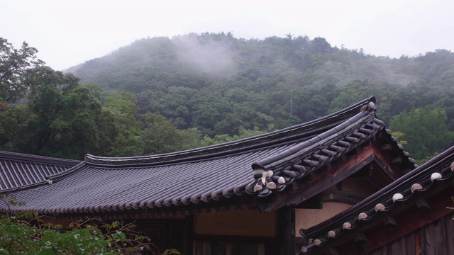
M 1 44 L 3 60 L 11 54 Z M 28 57 L 16 75 L 23 81 L 15 81 L 28 99 L 2 95 L 0 149 L 72 158 L 171 152 L 285 128 L 369 96 L 413 157 L 453 141 L 448 50 L 396 59 L 325 38 L 190 33 L 136 40 L 65 73 L 32 62 L 33 51 Z M 7 63 L 0 64 L 1 77 Z

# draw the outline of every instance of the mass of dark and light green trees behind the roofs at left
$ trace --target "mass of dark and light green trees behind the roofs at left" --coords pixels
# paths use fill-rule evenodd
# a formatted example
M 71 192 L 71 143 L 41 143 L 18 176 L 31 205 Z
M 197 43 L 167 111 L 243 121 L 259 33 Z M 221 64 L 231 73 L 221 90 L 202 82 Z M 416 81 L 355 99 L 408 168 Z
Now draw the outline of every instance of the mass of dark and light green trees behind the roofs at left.
M 138 114 L 131 92 L 79 85 L 77 77 L 50 67 L 28 69 L 25 80 L 35 84 L 28 104 L 1 105 L 0 149 L 83 159 L 87 153 L 128 157 L 201 145 L 196 132 Z

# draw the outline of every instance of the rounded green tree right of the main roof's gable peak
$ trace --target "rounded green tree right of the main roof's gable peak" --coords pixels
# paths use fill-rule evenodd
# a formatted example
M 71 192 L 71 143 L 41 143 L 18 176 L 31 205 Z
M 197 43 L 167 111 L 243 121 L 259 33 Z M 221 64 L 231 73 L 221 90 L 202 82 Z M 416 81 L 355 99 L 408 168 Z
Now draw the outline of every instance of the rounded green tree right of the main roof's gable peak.
M 428 105 L 403 111 L 392 118 L 389 129 L 402 132 L 406 137 L 405 149 L 415 159 L 443 152 L 451 145 L 454 133 L 448 130 L 443 108 Z

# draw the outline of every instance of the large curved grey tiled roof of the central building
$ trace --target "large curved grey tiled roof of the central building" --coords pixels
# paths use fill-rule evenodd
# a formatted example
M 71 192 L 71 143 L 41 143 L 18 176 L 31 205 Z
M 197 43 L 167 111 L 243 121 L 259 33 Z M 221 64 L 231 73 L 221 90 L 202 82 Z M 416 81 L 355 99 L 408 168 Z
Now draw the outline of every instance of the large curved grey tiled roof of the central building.
M 83 164 L 49 176 L 51 185 L 15 193 L 26 203 L 15 210 L 96 213 L 181 208 L 247 193 L 267 196 L 384 130 L 374 103 L 367 98 L 309 123 L 184 152 L 87 155 Z

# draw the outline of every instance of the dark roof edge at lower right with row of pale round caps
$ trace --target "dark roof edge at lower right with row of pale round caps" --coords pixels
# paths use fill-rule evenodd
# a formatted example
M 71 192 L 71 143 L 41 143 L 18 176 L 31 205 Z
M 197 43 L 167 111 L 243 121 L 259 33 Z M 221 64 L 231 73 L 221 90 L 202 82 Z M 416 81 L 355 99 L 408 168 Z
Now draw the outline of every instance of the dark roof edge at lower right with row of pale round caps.
M 413 197 L 424 196 L 437 187 L 452 185 L 453 171 L 454 147 L 451 147 L 348 210 L 309 229 L 300 229 L 306 244 L 299 254 L 311 254 L 323 249 L 336 239 L 367 227 L 368 222 L 375 218 L 380 220 L 381 216 L 389 215 L 393 210 L 411 206 L 408 201 Z

